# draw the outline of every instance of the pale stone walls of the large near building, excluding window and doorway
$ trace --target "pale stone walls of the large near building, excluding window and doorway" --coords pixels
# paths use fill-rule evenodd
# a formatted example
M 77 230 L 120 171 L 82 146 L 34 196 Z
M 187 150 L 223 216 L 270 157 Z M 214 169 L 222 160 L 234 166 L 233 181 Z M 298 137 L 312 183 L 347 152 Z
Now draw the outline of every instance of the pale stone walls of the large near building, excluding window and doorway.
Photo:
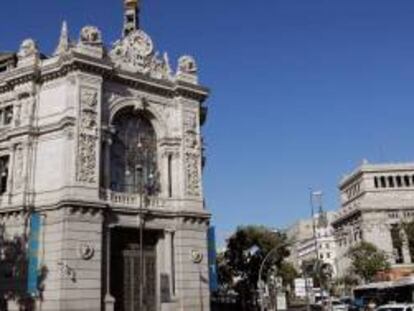
M 23 233 L 28 211 L 42 215 L 38 255 L 48 273 L 43 300 L 37 299 L 41 310 L 102 310 L 103 231 L 110 224 L 138 228 L 137 196 L 114 194 L 108 186 L 111 120 L 126 107 L 149 112 L 158 139 L 161 193 L 147 206 L 146 224 L 164 232 L 156 246 L 157 309 L 209 310 L 210 215 L 203 204 L 200 125 L 208 90 L 198 85 L 192 57 L 181 57 L 174 73 L 151 42 L 148 54 L 140 54 L 139 44 L 150 40 L 145 33 L 132 35 L 104 53 L 96 27 L 83 28 L 75 47 L 62 29 L 53 57 L 42 60 L 34 41 L 25 40 L 16 71 L 0 74 L 0 109 L 14 106 L 13 122 L 0 128 L 0 155 L 10 155 L 0 221 L 8 234 Z M 136 37 L 142 40 L 124 42 Z M 117 48 L 130 50 L 121 55 Z M 85 245 L 93 249 L 90 258 L 82 257 Z M 161 273 L 175 288 L 170 302 L 159 301 Z

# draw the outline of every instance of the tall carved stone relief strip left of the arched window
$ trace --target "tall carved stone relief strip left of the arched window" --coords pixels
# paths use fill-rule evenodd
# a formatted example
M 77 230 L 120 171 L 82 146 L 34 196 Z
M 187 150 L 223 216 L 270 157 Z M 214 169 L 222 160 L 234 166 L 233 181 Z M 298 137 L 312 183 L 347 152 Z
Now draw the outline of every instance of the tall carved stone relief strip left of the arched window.
M 96 141 L 98 139 L 98 92 L 81 89 L 78 156 L 76 180 L 82 183 L 96 183 Z

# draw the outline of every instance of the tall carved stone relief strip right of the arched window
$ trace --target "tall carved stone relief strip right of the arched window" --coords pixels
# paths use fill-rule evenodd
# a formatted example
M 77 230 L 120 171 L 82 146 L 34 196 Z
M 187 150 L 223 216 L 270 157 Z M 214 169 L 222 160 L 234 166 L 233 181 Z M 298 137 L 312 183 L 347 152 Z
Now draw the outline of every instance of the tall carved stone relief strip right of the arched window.
M 197 132 L 197 114 L 187 111 L 184 116 L 184 148 L 186 193 L 201 195 L 200 148 Z

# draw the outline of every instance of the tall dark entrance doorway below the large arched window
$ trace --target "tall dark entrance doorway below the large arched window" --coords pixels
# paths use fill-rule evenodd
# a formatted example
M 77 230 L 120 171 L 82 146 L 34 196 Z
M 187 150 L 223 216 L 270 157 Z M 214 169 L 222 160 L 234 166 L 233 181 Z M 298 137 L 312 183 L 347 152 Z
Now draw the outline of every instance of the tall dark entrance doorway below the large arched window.
M 115 311 L 156 311 L 157 268 L 155 246 L 157 231 L 144 232 L 143 308 L 139 309 L 141 252 L 139 230 L 115 228 L 111 237 L 111 292 Z

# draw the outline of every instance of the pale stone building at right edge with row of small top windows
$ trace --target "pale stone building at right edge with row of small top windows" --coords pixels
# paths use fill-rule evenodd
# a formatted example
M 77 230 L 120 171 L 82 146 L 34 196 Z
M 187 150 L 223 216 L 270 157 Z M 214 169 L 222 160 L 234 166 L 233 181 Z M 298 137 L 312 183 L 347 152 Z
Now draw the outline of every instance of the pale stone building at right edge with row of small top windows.
M 369 164 L 343 178 L 341 208 L 333 222 L 338 272 L 348 273 L 346 256 L 360 241 L 371 242 L 388 255 L 393 268 L 410 267 L 408 241 L 400 225 L 414 216 L 414 164 Z

